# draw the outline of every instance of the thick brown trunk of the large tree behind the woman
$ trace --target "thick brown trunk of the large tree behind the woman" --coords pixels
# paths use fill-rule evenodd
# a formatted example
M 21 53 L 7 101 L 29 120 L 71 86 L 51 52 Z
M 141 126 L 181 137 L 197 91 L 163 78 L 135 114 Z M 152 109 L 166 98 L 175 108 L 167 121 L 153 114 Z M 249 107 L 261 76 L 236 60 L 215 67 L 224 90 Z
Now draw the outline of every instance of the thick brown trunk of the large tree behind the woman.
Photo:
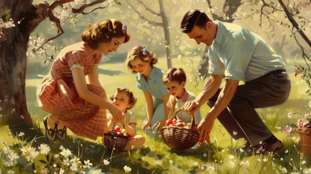
M 26 124 L 32 127 L 27 110 L 25 77 L 27 44 L 30 33 L 45 18 L 32 0 L 6 0 L 0 9 L 9 10 L 15 27 L 2 28 L 0 38 L 0 124 L 12 127 Z M 39 17 L 40 16 L 40 17 Z M 17 23 L 20 21 L 20 24 Z

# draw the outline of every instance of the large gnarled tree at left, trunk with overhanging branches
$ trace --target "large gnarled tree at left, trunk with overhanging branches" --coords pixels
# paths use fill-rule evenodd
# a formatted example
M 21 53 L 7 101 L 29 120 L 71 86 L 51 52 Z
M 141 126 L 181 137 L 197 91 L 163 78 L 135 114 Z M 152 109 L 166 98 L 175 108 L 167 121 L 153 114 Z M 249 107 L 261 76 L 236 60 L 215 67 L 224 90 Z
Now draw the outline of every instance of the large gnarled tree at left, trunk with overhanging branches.
M 45 39 L 37 49 L 64 33 L 60 19 L 55 14 L 57 7 L 74 14 L 88 14 L 105 0 L 54 0 L 33 4 L 33 0 L 0 1 L 0 124 L 12 127 L 26 124 L 33 127 L 27 110 L 25 94 L 25 77 L 30 34 L 45 19 L 54 22 L 57 27 L 55 36 Z M 120 3 L 114 0 L 115 4 Z M 71 7 L 71 5 L 75 5 Z M 86 11 L 90 9 L 89 11 Z

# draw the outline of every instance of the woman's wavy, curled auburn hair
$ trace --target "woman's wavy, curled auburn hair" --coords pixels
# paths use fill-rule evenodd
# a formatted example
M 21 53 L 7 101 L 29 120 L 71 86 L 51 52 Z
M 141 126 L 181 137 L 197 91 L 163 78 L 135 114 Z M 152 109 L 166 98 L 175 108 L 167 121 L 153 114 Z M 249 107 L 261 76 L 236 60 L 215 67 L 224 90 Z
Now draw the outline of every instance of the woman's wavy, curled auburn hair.
M 131 36 L 118 19 L 108 19 L 103 22 L 88 24 L 87 29 L 81 34 L 81 40 L 86 42 L 92 50 L 96 50 L 100 42 L 109 43 L 112 38 L 125 37 L 127 43 Z

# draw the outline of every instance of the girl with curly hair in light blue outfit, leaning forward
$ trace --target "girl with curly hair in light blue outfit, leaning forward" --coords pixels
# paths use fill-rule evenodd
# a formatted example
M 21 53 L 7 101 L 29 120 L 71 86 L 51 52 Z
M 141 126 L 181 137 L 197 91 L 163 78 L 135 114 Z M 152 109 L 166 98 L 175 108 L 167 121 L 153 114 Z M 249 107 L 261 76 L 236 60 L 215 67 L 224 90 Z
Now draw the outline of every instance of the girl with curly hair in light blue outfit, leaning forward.
M 162 83 L 164 71 L 154 66 L 157 60 L 155 53 L 148 51 L 144 46 L 132 48 L 126 59 L 128 69 L 135 74 L 137 88 L 144 91 L 146 98 L 147 118 L 142 124 L 143 130 L 157 123 L 156 130 L 158 130 L 165 125 L 168 116 L 166 103 L 169 94 Z

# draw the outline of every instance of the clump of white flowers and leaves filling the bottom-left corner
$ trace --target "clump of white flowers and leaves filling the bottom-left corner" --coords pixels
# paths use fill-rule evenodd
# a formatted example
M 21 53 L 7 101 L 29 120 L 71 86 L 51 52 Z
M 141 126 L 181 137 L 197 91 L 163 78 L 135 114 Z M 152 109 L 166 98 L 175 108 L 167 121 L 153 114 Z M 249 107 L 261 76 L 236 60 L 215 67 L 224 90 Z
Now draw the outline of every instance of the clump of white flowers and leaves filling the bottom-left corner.
M 19 135 L 23 134 L 20 133 Z M 26 145 L 21 146 L 19 149 L 7 146 L 5 142 L 3 142 L 3 145 L 1 154 L 3 158 L 1 161 L 5 167 L 10 169 L 8 170 L 10 174 L 15 174 L 14 169 L 16 168 L 14 166 L 22 161 L 39 166 L 33 172 L 40 174 L 67 174 L 76 171 L 85 174 L 85 169 L 90 169 L 92 166 L 89 160 L 84 160 L 82 163 L 80 158 L 74 156 L 69 149 L 63 146 L 59 148 L 61 150 L 59 153 L 54 154 L 52 158 L 48 158 L 52 152 L 50 152 L 50 146 L 44 143 L 38 147 Z

